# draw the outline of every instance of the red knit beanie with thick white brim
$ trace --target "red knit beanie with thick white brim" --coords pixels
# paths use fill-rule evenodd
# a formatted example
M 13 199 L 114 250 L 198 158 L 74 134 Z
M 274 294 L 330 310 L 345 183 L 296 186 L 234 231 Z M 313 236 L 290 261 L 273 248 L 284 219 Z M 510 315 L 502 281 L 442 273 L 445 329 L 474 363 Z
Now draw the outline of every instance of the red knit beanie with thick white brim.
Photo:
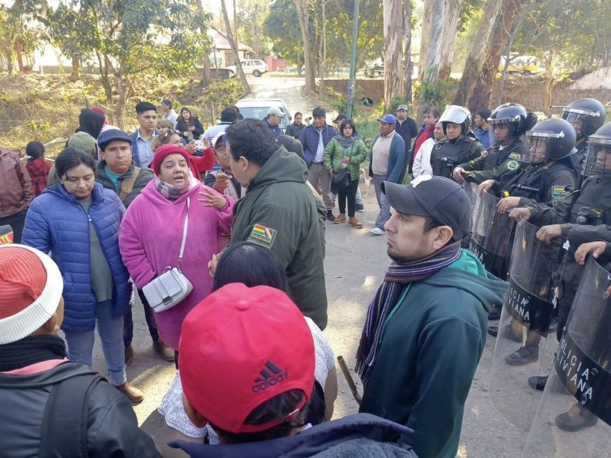
M 60 269 L 50 257 L 25 245 L 0 245 L 0 345 L 44 325 L 62 290 Z

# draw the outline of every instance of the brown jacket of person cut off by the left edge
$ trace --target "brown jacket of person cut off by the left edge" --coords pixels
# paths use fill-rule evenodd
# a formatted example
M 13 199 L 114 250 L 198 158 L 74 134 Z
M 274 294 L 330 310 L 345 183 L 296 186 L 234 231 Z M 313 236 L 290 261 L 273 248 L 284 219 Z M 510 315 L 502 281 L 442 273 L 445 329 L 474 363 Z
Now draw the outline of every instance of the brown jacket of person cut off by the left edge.
M 0 218 L 27 210 L 32 198 L 32 180 L 19 156 L 0 148 Z

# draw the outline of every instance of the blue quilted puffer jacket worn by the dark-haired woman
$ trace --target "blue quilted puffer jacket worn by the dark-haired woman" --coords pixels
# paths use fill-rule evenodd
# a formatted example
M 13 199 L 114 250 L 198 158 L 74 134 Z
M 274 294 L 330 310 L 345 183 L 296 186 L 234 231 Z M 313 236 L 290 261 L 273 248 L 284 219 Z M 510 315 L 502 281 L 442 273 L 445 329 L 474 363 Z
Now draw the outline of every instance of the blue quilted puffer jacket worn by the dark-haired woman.
M 96 183 L 91 194 L 89 217 L 98 233 L 112 274 L 114 316 L 130 307 L 129 274 L 119 253 L 119 224 L 125 208 L 114 191 Z M 51 252 L 64 279 L 66 331 L 89 331 L 96 327 L 96 295 L 91 289 L 89 222 L 77 199 L 63 184 L 55 184 L 32 201 L 25 218 L 22 243 Z

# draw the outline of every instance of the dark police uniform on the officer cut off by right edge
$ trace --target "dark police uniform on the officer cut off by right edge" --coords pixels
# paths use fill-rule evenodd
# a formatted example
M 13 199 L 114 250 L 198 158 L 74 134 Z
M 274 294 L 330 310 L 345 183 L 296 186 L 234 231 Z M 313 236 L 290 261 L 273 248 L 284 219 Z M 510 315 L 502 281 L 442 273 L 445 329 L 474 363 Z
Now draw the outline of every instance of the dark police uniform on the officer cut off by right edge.
M 558 330 L 560 339 L 577 293 L 583 266 L 575 261 L 574 252 L 582 243 L 611 242 L 611 177 L 589 177 L 579 191 L 565 196 L 553 207 L 530 203 L 530 222 L 538 226 L 560 224 L 562 235 L 570 242 L 570 254 L 563 271 L 563 291 L 558 300 Z

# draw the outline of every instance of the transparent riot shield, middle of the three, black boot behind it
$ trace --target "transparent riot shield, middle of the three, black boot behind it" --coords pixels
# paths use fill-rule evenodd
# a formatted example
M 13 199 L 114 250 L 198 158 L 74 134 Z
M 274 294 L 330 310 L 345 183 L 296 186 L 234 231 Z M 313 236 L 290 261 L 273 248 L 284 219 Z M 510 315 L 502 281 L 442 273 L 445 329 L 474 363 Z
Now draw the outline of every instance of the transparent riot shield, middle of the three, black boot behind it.
M 556 339 L 546 337 L 569 245 L 564 237 L 539 242 L 538 230 L 524 220 L 517 224 L 490 371 L 492 402 L 523 431 L 530 428 L 541 396 L 528 379 L 548 375 L 553 364 Z

